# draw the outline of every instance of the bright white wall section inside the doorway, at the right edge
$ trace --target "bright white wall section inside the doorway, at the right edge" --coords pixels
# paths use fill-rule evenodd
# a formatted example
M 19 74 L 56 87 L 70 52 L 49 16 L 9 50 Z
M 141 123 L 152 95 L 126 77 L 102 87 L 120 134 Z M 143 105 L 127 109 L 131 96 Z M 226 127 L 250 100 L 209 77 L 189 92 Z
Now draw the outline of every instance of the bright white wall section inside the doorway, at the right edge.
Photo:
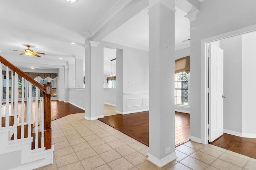
M 256 138 L 255 96 L 256 33 L 242 35 L 242 133 Z

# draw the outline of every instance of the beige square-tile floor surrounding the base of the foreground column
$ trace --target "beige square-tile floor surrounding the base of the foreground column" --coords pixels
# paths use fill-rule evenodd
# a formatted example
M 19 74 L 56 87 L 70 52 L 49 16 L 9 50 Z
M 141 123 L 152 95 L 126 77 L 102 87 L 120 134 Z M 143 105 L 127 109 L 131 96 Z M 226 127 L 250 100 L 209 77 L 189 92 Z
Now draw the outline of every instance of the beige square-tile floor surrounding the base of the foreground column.
M 147 160 L 148 147 L 77 113 L 52 121 L 54 164 L 38 170 L 255 170 L 256 159 L 213 146 L 186 142 L 178 158 L 159 168 Z

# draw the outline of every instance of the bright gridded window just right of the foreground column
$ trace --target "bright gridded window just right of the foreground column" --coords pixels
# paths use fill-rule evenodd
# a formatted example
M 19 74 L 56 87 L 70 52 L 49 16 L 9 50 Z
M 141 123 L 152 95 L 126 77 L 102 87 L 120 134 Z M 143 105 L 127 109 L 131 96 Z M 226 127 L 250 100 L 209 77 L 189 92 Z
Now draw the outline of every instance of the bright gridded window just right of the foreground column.
M 180 72 L 175 74 L 175 104 L 188 105 L 188 74 Z

